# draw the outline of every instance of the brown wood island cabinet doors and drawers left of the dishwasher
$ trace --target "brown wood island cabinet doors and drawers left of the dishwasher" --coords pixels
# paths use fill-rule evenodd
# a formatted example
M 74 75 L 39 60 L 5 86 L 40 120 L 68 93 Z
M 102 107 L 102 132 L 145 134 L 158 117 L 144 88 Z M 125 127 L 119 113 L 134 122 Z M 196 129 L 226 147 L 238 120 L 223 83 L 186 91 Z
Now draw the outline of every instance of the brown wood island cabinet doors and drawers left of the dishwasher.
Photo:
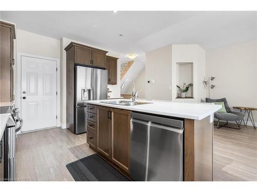
M 91 108 L 96 105 L 89 105 Z M 97 121 L 89 121 L 87 125 L 87 143 L 90 148 L 105 157 L 106 160 L 123 170 L 129 172 L 130 161 L 130 119 L 131 112 L 126 110 L 96 106 Z M 91 112 L 91 111 L 90 111 Z M 91 115 L 89 109 L 87 114 Z M 92 126 L 97 126 L 96 132 Z

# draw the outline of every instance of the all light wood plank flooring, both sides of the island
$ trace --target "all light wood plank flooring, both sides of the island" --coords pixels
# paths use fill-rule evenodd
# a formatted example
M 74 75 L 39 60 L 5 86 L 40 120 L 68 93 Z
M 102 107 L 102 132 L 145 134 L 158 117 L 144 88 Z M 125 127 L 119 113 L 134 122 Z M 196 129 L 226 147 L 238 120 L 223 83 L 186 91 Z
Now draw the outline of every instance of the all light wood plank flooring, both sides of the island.
M 214 181 L 257 181 L 257 131 L 214 127 Z M 66 164 L 94 154 L 86 134 L 53 128 L 17 137 L 16 174 L 20 180 L 74 181 Z

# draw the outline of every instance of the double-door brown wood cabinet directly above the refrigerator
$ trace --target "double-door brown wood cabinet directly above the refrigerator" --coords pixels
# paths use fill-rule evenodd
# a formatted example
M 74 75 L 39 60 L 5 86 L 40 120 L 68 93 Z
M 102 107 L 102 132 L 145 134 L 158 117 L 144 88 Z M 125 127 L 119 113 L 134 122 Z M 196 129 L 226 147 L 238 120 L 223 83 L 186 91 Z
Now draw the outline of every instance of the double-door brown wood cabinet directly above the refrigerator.
M 106 68 L 105 57 L 107 51 L 77 44 L 76 42 L 70 42 L 70 44 L 65 48 L 65 51 L 68 52 L 72 47 L 74 47 L 75 64 L 92 67 L 94 66 L 102 69 Z

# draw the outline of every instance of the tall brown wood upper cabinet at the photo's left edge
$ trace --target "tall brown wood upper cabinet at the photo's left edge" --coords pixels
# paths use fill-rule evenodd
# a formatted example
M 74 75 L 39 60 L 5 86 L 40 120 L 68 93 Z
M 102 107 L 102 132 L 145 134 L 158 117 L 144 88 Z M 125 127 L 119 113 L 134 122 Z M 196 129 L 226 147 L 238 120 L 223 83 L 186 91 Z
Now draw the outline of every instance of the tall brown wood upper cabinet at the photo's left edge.
M 15 27 L 0 22 L 0 102 L 13 101 L 13 39 Z

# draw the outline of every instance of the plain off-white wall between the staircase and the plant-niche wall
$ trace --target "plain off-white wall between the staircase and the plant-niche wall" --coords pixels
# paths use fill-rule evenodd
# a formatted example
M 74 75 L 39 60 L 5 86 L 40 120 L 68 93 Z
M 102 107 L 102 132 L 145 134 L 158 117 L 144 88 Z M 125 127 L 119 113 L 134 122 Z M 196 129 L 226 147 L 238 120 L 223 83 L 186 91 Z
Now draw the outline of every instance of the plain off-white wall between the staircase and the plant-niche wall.
M 148 80 L 154 83 L 148 83 Z M 145 54 L 145 98 L 172 100 L 172 46 Z M 175 90 L 176 91 L 176 90 Z

